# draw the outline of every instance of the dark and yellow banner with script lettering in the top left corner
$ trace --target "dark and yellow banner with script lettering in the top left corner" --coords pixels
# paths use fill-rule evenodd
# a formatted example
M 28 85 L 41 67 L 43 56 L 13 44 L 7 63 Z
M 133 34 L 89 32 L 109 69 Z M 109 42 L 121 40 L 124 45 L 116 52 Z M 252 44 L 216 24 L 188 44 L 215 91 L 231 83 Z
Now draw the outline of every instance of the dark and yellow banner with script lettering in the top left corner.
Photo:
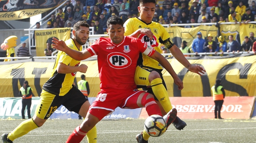
M 0 20 L 18 20 L 45 13 L 65 0 L 0 0 Z

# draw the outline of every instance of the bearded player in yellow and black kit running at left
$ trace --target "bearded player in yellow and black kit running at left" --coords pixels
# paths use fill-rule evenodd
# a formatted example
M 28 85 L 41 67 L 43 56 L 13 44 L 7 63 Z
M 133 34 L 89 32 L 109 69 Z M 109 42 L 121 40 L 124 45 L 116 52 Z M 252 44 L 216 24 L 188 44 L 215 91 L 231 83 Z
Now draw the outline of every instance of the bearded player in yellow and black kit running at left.
M 65 41 L 70 49 L 82 51 L 82 45 L 89 37 L 89 25 L 84 22 L 77 22 L 73 27 L 73 37 Z M 43 85 L 40 100 L 37 103 L 35 115 L 32 119 L 23 121 L 11 133 L 4 133 L 2 141 L 12 143 L 13 140 L 24 136 L 31 130 L 41 127 L 52 113 L 60 107 L 65 106 L 69 111 L 86 117 L 90 107 L 88 98 L 73 85 L 77 72 L 85 73 L 87 66 L 80 64 L 65 52 L 59 51 L 50 79 Z M 87 134 L 88 143 L 97 143 L 96 127 L 93 127 Z

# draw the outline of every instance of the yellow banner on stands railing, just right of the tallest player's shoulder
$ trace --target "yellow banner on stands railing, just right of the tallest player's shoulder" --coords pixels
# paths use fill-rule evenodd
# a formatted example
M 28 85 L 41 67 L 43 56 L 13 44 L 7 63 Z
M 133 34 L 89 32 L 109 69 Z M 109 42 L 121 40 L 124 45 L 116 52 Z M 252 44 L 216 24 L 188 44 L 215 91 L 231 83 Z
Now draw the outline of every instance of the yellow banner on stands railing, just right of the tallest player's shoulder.
M 191 47 L 192 42 L 195 38 L 197 38 L 197 33 L 202 33 L 202 38 L 207 38 L 208 34 L 211 34 L 213 36 L 213 39 L 216 38 L 217 40 L 217 34 L 218 34 L 218 28 L 213 26 L 206 26 L 206 25 L 200 25 L 194 28 L 183 28 L 183 27 L 169 27 L 165 28 L 166 31 L 170 34 L 170 37 L 172 38 L 172 41 L 174 41 L 175 45 L 178 47 L 181 47 L 181 42 L 185 40 L 187 42 L 187 46 Z M 191 50 L 192 51 L 192 50 Z

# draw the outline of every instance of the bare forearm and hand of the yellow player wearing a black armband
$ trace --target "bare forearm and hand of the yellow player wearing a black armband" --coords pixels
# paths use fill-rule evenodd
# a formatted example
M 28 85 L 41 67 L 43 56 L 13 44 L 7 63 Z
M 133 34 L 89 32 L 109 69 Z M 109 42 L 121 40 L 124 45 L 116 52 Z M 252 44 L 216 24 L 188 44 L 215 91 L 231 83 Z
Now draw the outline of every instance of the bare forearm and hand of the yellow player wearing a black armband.
M 203 67 L 200 67 L 199 65 L 191 65 L 191 63 L 189 63 L 189 61 L 185 58 L 183 53 L 180 51 L 180 49 L 176 45 L 173 45 L 169 50 L 172 53 L 172 55 L 174 56 L 174 58 L 176 58 L 189 71 L 197 73 L 200 76 L 202 76 L 202 74 L 200 74 L 200 72 L 201 73 L 206 72 L 206 70 Z

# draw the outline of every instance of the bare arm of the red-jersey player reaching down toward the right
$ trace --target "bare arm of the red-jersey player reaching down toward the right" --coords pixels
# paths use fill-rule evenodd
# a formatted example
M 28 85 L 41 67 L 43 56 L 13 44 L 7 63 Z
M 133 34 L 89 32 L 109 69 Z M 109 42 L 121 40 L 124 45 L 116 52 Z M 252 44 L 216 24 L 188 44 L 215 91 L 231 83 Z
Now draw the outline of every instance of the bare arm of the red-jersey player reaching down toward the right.
M 172 65 L 166 60 L 166 58 L 164 58 L 163 55 L 155 51 L 154 54 L 150 56 L 150 58 L 157 60 L 157 62 L 159 62 L 164 67 L 164 69 L 166 69 L 166 71 L 170 73 L 170 75 L 174 79 L 174 83 L 178 85 L 179 90 L 183 89 L 183 82 L 180 80 L 176 72 L 173 70 Z

